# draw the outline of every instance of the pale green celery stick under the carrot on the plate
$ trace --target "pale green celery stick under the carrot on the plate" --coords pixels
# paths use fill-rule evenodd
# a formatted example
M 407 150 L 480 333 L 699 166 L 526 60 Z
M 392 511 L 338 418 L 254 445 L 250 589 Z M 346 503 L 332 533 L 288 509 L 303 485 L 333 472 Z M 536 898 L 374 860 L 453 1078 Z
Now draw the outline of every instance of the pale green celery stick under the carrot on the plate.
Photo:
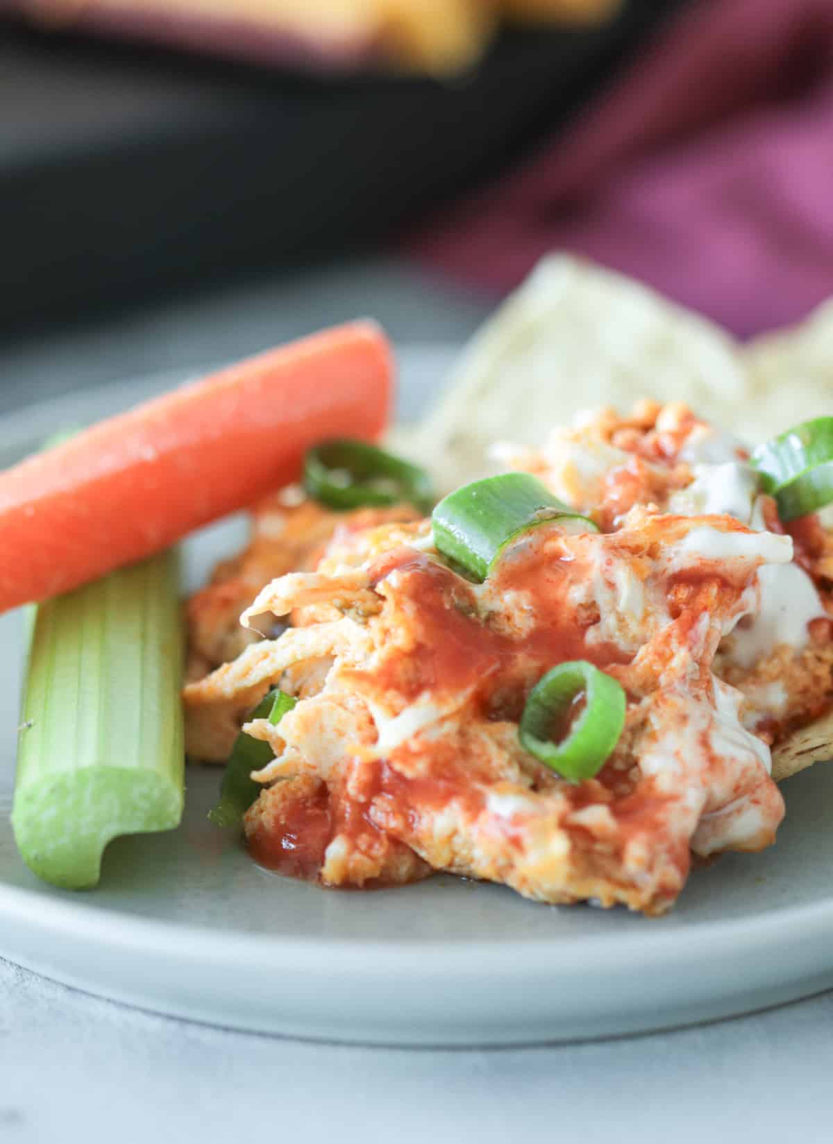
M 182 817 L 176 555 L 33 612 L 11 825 L 39 877 L 85 889 L 117 835 L 167 831 Z

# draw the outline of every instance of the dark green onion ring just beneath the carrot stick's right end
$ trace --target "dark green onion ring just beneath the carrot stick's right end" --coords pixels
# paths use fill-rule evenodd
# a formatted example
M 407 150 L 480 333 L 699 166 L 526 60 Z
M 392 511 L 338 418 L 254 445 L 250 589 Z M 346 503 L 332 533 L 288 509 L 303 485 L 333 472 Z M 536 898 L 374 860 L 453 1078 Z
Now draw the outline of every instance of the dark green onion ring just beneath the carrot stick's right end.
M 324 442 L 307 453 L 303 486 L 315 500 L 335 509 L 406 501 L 428 513 L 435 501 L 425 469 L 349 438 Z

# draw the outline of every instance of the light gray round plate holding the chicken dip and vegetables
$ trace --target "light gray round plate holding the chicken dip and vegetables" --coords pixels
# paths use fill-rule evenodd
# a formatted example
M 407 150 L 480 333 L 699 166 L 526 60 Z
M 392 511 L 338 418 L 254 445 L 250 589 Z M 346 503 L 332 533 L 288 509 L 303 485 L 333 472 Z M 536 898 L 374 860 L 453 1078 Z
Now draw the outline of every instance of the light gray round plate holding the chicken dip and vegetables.
M 403 356 L 414 415 L 449 351 Z M 60 424 L 114 412 L 181 378 L 73 395 L 2 422 L 8 463 Z M 206 530 L 190 582 L 241 537 Z M 217 774 L 192 770 L 169 834 L 121 839 L 101 887 L 73 895 L 22 865 L 8 825 L 19 613 L 0 617 L 0 954 L 162 1012 L 339 1040 L 510 1043 L 604 1036 L 728 1016 L 833 985 L 833 769 L 785 787 L 778 844 L 692 875 L 667 917 L 547 907 L 500 887 L 436 877 L 340 893 L 256 868 L 206 820 Z M 118 744 L 113 744 L 118 750 Z

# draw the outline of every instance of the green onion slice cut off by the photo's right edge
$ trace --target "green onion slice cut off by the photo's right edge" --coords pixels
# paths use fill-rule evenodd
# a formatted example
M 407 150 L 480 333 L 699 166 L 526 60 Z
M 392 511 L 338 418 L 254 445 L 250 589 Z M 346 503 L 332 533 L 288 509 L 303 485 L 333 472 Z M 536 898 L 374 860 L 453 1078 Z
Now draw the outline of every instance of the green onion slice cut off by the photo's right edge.
M 782 521 L 818 511 L 833 501 L 833 418 L 803 421 L 764 442 L 749 463 Z

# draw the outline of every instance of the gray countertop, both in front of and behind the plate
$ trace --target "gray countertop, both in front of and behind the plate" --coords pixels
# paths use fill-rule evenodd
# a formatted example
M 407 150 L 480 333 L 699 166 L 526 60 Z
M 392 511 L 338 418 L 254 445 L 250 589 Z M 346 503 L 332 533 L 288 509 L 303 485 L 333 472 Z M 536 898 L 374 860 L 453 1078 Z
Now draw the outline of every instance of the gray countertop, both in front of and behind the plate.
M 394 261 L 229 287 L 0 348 L 0 412 L 229 360 L 357 315 L 397 341 L 462 341 L 490 307 Z M 0 962 L 0 1139 L 814 1144 L 831 1139 L 832 1033 L 828 993 L 605 1043 L 367 1049 L 158 1017 Z

